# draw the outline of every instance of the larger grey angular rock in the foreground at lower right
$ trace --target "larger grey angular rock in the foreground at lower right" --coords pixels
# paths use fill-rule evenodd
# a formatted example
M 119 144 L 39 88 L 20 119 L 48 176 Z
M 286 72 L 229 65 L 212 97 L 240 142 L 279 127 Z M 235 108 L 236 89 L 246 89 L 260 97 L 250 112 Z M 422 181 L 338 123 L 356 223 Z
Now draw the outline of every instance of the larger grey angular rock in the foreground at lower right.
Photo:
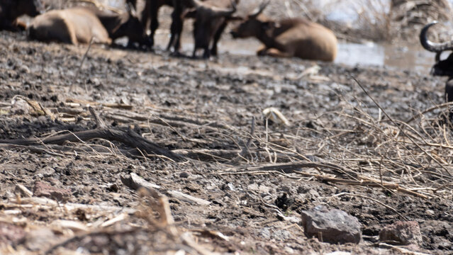
M 320 241 L 331 244 L 358 244 L 362 239 L 359 220 L 342 210 L 328 210 L 318 205 L 302 211 L 301 216 L 307 237 L 318 237 Z

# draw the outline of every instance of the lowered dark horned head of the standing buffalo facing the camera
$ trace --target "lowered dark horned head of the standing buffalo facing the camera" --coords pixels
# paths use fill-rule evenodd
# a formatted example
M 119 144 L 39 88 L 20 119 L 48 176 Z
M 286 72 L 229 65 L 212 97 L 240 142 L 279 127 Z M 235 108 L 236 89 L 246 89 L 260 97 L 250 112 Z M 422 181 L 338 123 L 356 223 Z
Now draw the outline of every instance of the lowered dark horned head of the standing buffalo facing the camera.
M 230 1 L 230 8 L 221 8 L 198 0 L 191 0 L 191 2 L 195 13 L 191 13 L 189 16 L 195 17 L 195 45 L 196 47 L 208 47 L 218 28 L 235 13 L 236 3 Z

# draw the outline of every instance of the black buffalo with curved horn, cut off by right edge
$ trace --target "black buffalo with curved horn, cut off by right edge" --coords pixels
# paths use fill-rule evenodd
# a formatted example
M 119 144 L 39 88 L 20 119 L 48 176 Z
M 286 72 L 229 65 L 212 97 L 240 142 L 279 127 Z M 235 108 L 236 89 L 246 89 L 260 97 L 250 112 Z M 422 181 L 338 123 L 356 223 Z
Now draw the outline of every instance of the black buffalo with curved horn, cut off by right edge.
M 442 52 L 447 50 L 453 50 L 453 41 L 450 42 L 431 42 L 427 39 L 427 31 L 431 26 L 434 26 L 437 22 L 427 24 L 420 32 L 420 43 L 430 52 L 436 52 L 435 64 L 432 66 L 431 74 L 435 76 L 446 76 L 448 81 L 445 84 L 445 98 L 447 102 L 453 101 L 453 53 L 445 60 L 440 60 Z

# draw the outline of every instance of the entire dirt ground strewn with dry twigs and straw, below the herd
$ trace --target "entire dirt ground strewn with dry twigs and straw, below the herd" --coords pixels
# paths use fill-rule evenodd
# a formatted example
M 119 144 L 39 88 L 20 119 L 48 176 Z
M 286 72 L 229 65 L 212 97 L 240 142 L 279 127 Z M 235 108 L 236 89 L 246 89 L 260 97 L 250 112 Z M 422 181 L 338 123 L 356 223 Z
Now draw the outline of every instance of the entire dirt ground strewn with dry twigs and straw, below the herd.
M 452 254 L 453 134 L 447 106 L 432 108 L 443 79 L 99 45 L 81 67 L 86 48 L 0 33 L 0 253 Z M 105 139 L 6 141 L 94 129 L 89 106 L 183 158 Z M 137 176 L 157 194 L 126 185 Z M 305 237 L 300 212 L 320 204 L 357 217 L 362 242 Z M 397 220 L 420 224 L 418 247 L 379 243 Z

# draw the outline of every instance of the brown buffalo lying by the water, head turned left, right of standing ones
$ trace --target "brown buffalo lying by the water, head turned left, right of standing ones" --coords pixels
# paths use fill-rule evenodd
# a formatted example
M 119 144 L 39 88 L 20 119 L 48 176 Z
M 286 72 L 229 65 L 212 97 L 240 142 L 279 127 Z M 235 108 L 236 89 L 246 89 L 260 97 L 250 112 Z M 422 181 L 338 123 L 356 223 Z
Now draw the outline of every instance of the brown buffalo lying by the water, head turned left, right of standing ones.
M 231 31 L 233 38 L 255 37 L 264 46 L 257 55 L 300 57 L 331 62 L 337 55 L 337 38 L 328 28 L 301 18 L 274 21 L 262 15 L 269 1 Z

